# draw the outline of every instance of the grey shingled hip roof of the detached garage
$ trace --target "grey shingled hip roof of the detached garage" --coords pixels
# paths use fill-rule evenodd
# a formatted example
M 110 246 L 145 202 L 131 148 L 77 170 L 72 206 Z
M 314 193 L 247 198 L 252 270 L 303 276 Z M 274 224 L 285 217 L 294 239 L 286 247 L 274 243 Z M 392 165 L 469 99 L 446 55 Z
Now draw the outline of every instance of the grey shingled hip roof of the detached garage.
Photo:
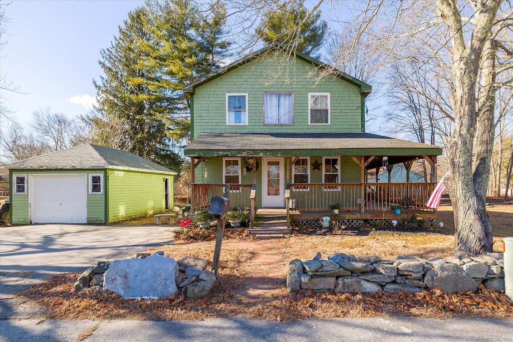
M 8 169 L 125 169 L 157 173 L 176 172 L 127 151 L 84 144 L 38 155 L 6 165 Z

